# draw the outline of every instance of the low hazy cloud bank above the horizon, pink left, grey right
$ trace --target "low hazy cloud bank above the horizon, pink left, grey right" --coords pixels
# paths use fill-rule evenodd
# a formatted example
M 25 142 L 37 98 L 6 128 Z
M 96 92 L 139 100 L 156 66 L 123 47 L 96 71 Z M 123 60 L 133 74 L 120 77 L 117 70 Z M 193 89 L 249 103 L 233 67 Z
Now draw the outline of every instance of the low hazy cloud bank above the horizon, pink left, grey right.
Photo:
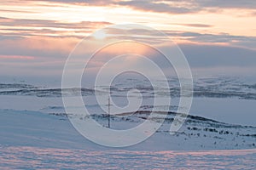
M 190 35 L 189 35 L 190 36 Z M 23 38 L 17 40 L 5 40 L 0 42 L 0 60 L 1 71 L 9 74 L 20 74 L 21 72 L 30 74 L 61 74 L 65 60 L 72 51 L 76 42 L 68 39 L 56 38 Z M 68 43 L 67 43 L 68 42 Z M 128 46 L 129 47 L 129 46 Z M 221 45 L 201 45 L 201 44 L 179 44 L 183 54 L 189 61 L 191 69 L 195 74 L 197 71 L 211 71 L 214 74 L 217 71 L 247 72 L 256 70 L 256 50 L 249 48 L 229 47 Z M 15 50 L 13 50 L 15 48 Z M 118 48 L 118 47 L 115 47 Z M 170 47 L 162 47 L 170 48 Z M 141 49 L 137 47 L 137 50 Z M 85 49 L 84 49 L 85 50 Z M 152 59 L 154 63 L 160 66 L 166 73 L 173 72 L 172 67 L 160 53 L 153 50 L 143 50 L 143 55 Z M 136 53 L 135 51 L 134 53 Z M 119 50 L 106 49 L 97 54 L 97 58 L 90 62 L 90 69 L 97 71 L 106 59 L 111 59 L 116 54 L 123 54 Z M 126 65 L 127 63 L 125 63 Z M 144 65 L 142 62 L 139 65 Z M 120 63 L 122 65 L 122 63 Z M 225 70 L 224 70 L 225 68 Z M 216 72 L 215 72 L 216 71 Z M 26 72 L 26 73 L 25 73 Z M 60 75 L 59 75 L 60 76 Z

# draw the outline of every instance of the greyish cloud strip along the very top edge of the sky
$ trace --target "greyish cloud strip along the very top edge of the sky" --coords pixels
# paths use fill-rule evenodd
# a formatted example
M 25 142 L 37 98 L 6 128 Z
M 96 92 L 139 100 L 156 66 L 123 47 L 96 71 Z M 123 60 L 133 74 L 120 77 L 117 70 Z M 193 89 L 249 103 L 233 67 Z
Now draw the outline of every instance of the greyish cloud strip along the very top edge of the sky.
M 224 8 L 256 8 L 256 2 L 253 0 L 54 0 L 54 2 L 94 6 L 119 5 L 143 11 L 169 14 L 189 14 Z

